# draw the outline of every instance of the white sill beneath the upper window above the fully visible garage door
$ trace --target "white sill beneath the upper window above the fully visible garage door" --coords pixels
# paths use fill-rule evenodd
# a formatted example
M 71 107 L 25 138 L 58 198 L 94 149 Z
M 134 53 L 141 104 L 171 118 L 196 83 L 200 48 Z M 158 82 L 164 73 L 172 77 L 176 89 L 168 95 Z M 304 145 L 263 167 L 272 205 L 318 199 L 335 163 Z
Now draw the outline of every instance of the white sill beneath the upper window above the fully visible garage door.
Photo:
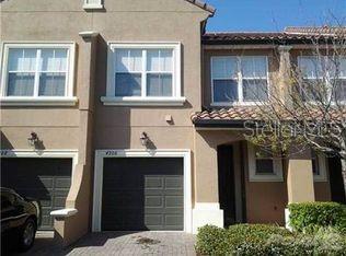
M 183 106 L 185 97 L 101 97 L 105 106 Z

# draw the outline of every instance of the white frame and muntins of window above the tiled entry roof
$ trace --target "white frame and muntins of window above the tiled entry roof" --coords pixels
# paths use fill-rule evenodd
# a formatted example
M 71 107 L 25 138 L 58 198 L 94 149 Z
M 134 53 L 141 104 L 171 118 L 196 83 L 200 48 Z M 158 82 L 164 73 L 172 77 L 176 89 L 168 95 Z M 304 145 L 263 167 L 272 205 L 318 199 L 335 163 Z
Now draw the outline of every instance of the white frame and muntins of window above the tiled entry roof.
M 267 81 L 267 93 L 268 93 L 268 98 L 270 97 L 270 81 L 269 81 L 269 58 L 267 55 L 244 55 L 244 56 L 238 56 L 238 55 L 218 55 L 218 56 L 211 56 L 210 57 L 210 84 L 211 84 L 211 106 L 238 106 L 238 105 L 261 105 L 262 102 L 260 101 L 244 101 L 244 94 L 243 94 L 243 74 L 242 74 L 242 66 L 241 66 L 241 59 L 242 58 L 249 58 L 249 57 L 262 57 L 265 58 L 266 62 L 266 81 Z M 228 79 L 219 79 L 215 78 L 212 74 L 214 71 L 214 59 L 218 58 L 235 58 L 237 59 L 237 78 L 233 79 L 238 82 L 238 101 L 234 102 L 216 102 L 214 98 L 214 80 L 230 80 L 231 78 Z M 256 78 L 251 78 L 255 80 Z M 262 79 L 262 78 L 261 78 Z M 249 78 L 246 80 L 250 80 Z

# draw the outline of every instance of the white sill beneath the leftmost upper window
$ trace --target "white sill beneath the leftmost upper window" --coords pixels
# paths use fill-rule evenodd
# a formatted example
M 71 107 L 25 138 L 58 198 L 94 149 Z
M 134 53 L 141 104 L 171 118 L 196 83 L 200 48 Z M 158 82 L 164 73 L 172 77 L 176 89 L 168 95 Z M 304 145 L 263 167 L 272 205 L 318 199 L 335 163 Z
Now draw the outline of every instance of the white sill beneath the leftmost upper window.
M 1 106 L 74 106 L 77 97 L 0 97 Z

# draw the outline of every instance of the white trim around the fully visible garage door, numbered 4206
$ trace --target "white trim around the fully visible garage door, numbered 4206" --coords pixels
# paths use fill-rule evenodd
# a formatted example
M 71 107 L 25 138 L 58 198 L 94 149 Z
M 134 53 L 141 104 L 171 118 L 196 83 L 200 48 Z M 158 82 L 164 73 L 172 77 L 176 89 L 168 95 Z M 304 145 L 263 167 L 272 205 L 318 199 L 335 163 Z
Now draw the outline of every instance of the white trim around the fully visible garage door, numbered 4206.
M 192 181 L 189 150 L 96 150 L 94 170 L 92 231 L 101 231 L 103 160 L 105 158 L 183 158 L 184 231 L 192 233 Z

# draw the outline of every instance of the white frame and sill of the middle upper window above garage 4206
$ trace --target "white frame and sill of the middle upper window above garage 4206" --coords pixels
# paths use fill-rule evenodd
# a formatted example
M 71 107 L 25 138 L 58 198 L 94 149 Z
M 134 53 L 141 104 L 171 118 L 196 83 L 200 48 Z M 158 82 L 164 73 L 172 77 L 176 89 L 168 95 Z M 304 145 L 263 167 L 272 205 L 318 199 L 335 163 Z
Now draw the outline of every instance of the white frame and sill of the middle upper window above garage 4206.
M 146 85 L 141 84 L 140 96 L 115 96 L 115 50 L 116 49 L 172 49 L 173 71 L 172 71 L 172 96 L 147 96 Z M 146 57 L 146 55 L 145 55 Z M 142 63 L 147 61 L 142 59 Z M 142 70 L 141 74 L 151 71 Z M 154 72 L 155 73 L 155 72 Z M 147 78 L 142 78 L 142 81 Z M 185 97 L 182 96 L 181 81 L 181 43 L 108 43 L 107 56 L 107 86 L 106 96 L 102 96 L 104 105 L 183 105 Z

